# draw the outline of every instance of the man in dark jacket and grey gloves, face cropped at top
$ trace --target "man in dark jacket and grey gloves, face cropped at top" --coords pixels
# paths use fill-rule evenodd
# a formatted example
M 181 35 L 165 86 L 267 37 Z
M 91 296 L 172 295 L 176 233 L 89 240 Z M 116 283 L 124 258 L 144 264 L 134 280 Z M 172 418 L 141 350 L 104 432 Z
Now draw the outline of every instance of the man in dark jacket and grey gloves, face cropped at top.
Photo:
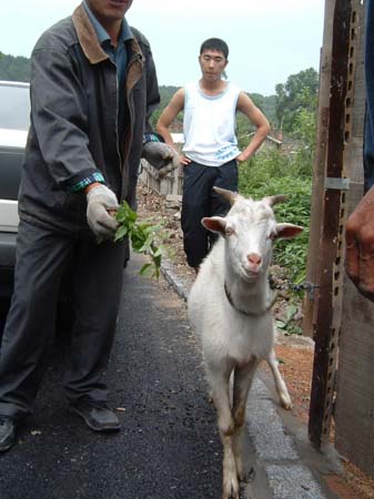
M 32 52 L 14 293 L 0 357 L 0 451 L 32 411 L 67 269 L 74 323 L 65 395 L 93 430 L 120 429 L 102 379 L 124 262 L 110 213 L 134 197 L 142 155 L 156 167 L 173 157 L 148 121 L 160 96 L 149 42 L 124 19 L 131 3 L 87 0 Z

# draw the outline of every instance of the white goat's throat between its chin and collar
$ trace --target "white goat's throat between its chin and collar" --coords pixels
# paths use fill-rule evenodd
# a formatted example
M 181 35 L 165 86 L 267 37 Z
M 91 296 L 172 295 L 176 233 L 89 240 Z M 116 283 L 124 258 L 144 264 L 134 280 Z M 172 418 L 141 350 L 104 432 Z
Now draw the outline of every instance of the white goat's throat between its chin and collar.
M 235 308 L 253 315 L 267 312 L 271 302 L 267 272 L 247 283 L 226 269 L 224 285 Z

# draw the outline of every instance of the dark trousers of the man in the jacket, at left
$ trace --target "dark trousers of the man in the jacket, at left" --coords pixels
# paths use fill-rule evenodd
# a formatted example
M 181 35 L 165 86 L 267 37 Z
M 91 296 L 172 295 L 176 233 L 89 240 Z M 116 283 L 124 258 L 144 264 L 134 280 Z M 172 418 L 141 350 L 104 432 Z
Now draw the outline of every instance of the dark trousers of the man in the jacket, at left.
M 22 222 L 14 292 L 0 354 L 0 415 L 23 419 L 47 367 L 60 283 L 72 269 L 74 323 L 64 387 L 70 401 L 105 401 L 102 374 L 122 288 L 123 244 L 97 245 Z

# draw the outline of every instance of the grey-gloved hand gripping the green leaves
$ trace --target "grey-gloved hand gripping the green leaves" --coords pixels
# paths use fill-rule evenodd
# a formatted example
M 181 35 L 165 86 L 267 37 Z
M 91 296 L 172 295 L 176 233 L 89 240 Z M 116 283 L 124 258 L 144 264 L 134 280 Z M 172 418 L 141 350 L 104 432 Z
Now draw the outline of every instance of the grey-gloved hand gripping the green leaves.
M 87 194 L 87 221 L 99 242 L 113 241 L 119 223 L 108 212 L 118 207 L 115 194 L 105 185 L 98 184 Z

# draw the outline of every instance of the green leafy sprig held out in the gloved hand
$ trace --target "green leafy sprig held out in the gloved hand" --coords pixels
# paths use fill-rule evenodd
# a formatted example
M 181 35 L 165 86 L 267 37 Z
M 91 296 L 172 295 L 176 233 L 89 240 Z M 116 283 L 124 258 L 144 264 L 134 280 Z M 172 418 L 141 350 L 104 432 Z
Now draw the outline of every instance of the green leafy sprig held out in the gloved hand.
M 154 223 L 152 218 L 139 221 L 138 214 L 125 201 L 117 211 L 115 220 L 120 225 L 114 242 L 129 237 L 133 251 L 145 254 L 151 259 L 142 266 L 140 274 L 159 278 L 162 256 L 168 253 L 162 242 L 169 236 L 169 231 L 163 223 Z

